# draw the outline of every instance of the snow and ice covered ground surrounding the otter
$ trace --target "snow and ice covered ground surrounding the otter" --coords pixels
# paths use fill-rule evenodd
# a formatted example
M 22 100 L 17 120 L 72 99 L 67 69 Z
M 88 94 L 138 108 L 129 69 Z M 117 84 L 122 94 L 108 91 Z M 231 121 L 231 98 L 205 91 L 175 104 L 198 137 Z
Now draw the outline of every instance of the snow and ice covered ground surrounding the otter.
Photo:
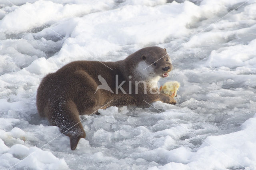
M 0 169 L 256 169 L 256 0 L 244 2 L 0 0 Z M 74 151 L 39 117 L 47 73 L 154 45 L 175 49 L 160 84 L 181 83 L 176 105 L 81 116 Z

